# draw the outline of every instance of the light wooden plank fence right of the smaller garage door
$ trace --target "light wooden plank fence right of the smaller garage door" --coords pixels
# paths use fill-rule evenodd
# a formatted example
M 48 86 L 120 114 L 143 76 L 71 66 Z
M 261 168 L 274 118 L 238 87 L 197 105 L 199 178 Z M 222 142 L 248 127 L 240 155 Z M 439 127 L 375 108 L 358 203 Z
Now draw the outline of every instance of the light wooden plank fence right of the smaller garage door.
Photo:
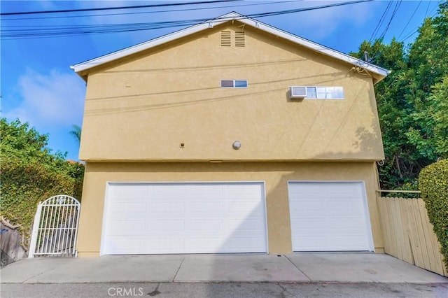
M 384 252 L 417 267 L 448 276 L 440 243 L 423 199 L 377 197 Z

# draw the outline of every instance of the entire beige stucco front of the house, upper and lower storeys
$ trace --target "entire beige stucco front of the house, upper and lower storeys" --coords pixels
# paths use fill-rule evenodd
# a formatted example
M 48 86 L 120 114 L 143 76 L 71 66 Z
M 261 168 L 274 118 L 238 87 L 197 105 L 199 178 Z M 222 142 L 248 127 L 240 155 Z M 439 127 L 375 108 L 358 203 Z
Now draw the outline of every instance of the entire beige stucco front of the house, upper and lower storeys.
M 291 253 L 288 180 L 365 181 L 375 251 L 384 251 L 375 194 L 384 150 L 367 72 L 231 21 L 78 74 L 87 80 L 80 257 L 100 253 L 106 183 L 137 181 L 264 181 L 273 254 Z M 297 85 L 341 86 L 344 99 L 291 100 Z

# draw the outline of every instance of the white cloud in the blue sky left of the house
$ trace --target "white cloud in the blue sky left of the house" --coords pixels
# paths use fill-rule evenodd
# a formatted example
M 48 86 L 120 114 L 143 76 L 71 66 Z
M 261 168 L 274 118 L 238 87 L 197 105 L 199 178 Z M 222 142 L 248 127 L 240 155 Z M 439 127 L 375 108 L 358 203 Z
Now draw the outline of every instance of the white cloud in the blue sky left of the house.
M 22 102 L 6 111 L 8 119 L 19 118 L 45 128 L 82 122 L 85 85 L 74 73 L 54 69 L 38 73 L 27 69 L 20 76 L 16 90 Z

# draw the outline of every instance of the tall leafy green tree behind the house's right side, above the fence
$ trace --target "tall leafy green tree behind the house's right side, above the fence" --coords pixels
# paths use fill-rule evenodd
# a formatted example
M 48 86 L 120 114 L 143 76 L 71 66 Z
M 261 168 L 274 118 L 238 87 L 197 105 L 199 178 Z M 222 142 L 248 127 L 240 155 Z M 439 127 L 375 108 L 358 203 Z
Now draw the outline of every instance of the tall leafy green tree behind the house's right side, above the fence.
M 395 39 L 364 41 L 370 62 L 392 73 L 375 85 L 386 155 L 379 167 L 384 189 L 414 188 L 421 169 L 447 156 L 448 1 L 427 18 L 419 36 L 405 48 Z

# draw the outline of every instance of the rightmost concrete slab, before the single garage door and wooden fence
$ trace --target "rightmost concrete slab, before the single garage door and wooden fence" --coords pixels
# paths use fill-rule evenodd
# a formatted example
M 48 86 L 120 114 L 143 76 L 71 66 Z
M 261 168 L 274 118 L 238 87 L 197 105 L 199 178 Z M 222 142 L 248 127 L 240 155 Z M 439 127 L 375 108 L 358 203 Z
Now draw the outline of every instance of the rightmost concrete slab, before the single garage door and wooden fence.
M 448 283 L 448 278 L 390 255 L 375 253 L 296 253 L 286 255 L 313 282 Z

